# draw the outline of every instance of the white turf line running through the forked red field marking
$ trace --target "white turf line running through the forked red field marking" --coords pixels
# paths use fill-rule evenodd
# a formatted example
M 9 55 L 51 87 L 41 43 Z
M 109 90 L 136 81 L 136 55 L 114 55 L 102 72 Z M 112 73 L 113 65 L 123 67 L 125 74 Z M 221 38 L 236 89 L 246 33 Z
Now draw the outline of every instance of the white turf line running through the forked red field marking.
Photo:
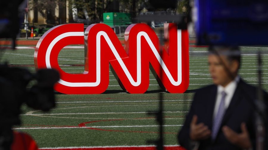
M 163 125 L 163 127 L 178 127 L 178 125 Z M 132 128 L 132 127 L 159 127 L 159 125 L 140 125 L 140 126 L 88 126 L 88 127 L 35 127 L 35 128 L 13 128 L 13 130 L 25 130 L 25 129 L 72 129 L 72 128 Z

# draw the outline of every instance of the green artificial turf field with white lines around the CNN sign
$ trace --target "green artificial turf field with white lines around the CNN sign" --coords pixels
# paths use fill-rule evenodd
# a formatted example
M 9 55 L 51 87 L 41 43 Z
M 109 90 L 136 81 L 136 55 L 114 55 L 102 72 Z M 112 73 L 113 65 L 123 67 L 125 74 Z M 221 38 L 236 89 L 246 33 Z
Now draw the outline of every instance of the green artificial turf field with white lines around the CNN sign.
M 241 47 L 240 76 L 257 85 L 256 51 L 263 52 L 262 83 L 268 90 L 268 48 Z M 191 106 L 194 90 L 212 83 L 208 71 L 207 48 L 190 47 L 190 84 L 184 94 L 163 93 L 164 144 L 178 145 L 177 132 Z M 35 72 L 34 49 L 5 50 L 1 63 Z M 61 68 L 69 73 L 82 73 L 83 48 L 65 48 L 58 58 Z M 74 65 L 78 66 L 74 66 Z M 27 67 L 25 67 L 27 66 Z M 35 84 L 29 83 L 28 88 Z M 16 130 L 27 132 L 40 148 L 81 146 L 139 146 L 152 145 L 148 140 L 158 138 L 158 124 L 147 111 L 158 109 L 158 96 L 162 90 L 150 72 L 150 86 L 145 94 L 127 94 L 110 72 L 110 83 L 104 94 L 66 95 L 56 93 L 57 106 L 49 113 L 22 106 L 21 126 Z

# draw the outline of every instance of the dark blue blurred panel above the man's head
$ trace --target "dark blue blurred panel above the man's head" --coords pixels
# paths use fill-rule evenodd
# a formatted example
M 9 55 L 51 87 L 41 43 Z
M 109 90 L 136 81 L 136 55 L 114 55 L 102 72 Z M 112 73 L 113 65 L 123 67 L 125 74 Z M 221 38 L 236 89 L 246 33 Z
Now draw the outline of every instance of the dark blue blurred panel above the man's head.
M 267 0 L 196 0 L 198 45 L 268 45 Z

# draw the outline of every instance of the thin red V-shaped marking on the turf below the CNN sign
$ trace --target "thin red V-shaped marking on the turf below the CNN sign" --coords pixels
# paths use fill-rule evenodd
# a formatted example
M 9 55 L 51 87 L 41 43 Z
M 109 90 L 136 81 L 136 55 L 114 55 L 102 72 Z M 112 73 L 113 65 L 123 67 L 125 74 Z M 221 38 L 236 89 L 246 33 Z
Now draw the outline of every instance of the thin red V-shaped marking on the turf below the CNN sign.
M 166 117 L 164 117 L 164 118 L 166 118 Z M 139 119 L 143 119 L 143 118 L 139 118 Z M 80 124 L 78 124 L 78 126 L 79 127 L 87 127 L 86 124 L 91 124 L 91 123 L 94 123 L 94 122 L 101 122 L 101 121 L 123 121 L 123 120 L 127 120 L 127 119 L 109 119 L 109 120 L 89 121 L 89 122 L 80 123 Z M 151 131 L 107 130 L 107 129 L 92 128 L 92 127 L 88 127 L 86 129 L 99 130 L 99 131 L 108 131 L 108 132 L 159 133 L 159 132 L 151 132 Z M 177 132 L 163 132 L 163 134 L 177 134 Z

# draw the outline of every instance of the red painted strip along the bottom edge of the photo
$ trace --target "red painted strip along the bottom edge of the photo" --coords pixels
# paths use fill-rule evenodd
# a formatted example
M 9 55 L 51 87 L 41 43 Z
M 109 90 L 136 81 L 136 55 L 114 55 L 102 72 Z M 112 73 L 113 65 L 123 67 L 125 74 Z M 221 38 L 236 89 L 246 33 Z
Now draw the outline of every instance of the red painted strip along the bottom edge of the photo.
M 41 150 L 41 149 L 40 149 Z M 133 146 L 133 147 L 92 147 L 92 148 L 63 148 L 63 149 L 46 149 L 46 150 L 156 150 L 155 146 Z M 164 146 L 164 150 L 186 150 L 181 146 Z

